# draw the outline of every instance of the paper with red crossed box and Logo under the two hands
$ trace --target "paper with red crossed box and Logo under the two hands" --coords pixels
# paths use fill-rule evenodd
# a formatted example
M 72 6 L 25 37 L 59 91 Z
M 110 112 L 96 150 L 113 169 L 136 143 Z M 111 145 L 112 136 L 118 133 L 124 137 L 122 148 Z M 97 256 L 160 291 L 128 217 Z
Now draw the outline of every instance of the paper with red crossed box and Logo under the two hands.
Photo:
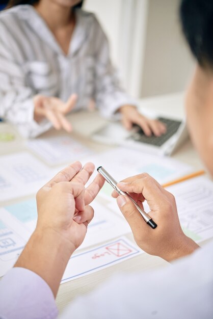
M 61 283 L 89 275 L 123 260 L 135 257 L 143 251 L 126 238 L 98 246 L 73 255 L 66 267 Z

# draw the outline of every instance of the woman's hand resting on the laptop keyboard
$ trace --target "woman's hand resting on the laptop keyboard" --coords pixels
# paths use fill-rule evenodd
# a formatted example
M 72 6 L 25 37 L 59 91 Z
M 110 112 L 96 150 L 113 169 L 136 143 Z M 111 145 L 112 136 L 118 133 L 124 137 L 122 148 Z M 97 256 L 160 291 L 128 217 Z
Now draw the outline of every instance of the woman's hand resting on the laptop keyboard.
M 146 136 L 151 136 L 152 133 L 155 136 L 161 136 L 166 132 L 165 124 L 143 116 L 134 105 L 123 105 L 119 111 L 122 114 L 123 126 L 128 130 L 132 128 L 132 124 L 137 124 L 143 129 Z

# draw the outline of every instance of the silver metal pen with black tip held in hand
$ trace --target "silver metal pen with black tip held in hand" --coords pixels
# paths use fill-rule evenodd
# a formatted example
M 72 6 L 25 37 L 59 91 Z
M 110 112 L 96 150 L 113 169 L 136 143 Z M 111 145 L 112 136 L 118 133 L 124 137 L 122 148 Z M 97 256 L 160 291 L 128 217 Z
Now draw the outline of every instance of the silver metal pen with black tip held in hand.
M 118 192 L 119 195 L 127 196 L 135 204 L 141 216 L 151 228 L 154 229 L 157 227 L 157 224 L 155 224 L 155 222 L 151 219 L 151 217 L 148 214 L 146 214 L 146 212 L 137 204 L 137 202 L 128 193 L 121 191 L 117 187 L 117 181 L 102 166 L 99 166 L 97 168 L 97 171 L 100 175 L 103 176 L 105 180 L 107 180 L 109 184 L 111 184 L 111 186 L 114 188 L 116 192 Z

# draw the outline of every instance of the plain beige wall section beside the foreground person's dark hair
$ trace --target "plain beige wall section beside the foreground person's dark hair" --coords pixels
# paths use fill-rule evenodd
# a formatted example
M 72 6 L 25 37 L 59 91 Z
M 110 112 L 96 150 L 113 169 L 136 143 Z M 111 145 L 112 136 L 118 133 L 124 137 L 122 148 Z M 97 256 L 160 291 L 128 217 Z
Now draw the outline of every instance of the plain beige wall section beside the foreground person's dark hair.
M 149 0 L 141 96 L 184 90 L 194 60 L 183 39 L 179 0 Z

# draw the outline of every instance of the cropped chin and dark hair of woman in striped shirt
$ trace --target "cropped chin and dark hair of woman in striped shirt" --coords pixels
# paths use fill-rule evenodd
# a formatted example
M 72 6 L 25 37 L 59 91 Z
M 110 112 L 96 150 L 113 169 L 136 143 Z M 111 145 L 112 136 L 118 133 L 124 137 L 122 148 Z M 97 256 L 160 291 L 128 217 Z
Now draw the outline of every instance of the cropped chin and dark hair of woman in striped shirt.
M 37 5 L 39 2 L 48 1 L 69 8 L 81 8 L 83 1 L 81 0 L 9 0 L 7 9 L 18 5 Z

